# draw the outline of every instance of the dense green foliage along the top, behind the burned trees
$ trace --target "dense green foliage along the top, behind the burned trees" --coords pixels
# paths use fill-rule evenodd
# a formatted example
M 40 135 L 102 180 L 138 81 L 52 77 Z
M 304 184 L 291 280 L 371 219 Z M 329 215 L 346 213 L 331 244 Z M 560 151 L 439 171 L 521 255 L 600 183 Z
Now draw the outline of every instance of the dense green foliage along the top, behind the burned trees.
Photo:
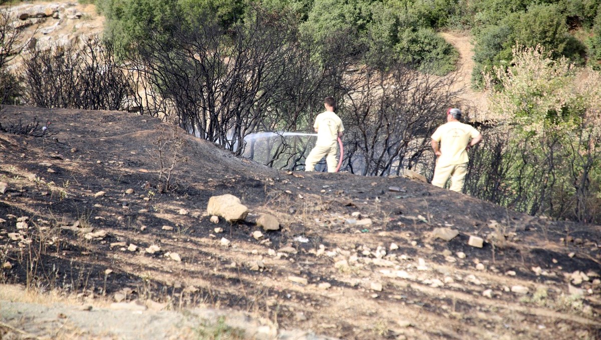
M 445 74 L 457 52 L 436 31 L 469 29 L 475 37 L 474 85 L 482 71 L 507 65 L 516 43 L 543 46 L 555 59 L 601 62 L 601 0 L 260 0 L 271 11 L 296 13 L 301 32 L 322 43 L 346 35 L 355 55 L 377 53 L 383 65 L 412 62 Z M 228 29 L 244 20 L 252 1 L 96 0 L 108 18 L 108 32 L 124 46 L 199 15 Z M 256 3 L 256 1 L 255 1 Z M 584 31 L 581 40 L 575 30 Z M 434 66 L 434 68 L 431 68 Z

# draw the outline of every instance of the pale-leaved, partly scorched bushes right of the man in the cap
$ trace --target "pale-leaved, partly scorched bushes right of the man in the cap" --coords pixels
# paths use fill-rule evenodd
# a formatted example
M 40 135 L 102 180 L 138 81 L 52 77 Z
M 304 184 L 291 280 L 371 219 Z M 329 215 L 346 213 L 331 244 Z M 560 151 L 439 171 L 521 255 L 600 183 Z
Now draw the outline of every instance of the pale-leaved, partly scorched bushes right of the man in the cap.
M 506 121 L 472 157 L 467 191 L 531 214 L 601 222 L 601 75 L 542 47 L 512 54 L 510 67 L 486 77 L 491 109 Z

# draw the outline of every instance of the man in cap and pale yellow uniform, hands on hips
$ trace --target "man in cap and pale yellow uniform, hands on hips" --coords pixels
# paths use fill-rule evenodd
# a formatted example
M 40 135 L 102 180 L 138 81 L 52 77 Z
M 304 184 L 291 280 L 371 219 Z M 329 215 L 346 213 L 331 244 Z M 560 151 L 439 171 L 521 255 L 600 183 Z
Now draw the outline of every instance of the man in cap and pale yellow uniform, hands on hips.
M 468 174 L 468 150 L 482 141 L 482 135 L 474 127 L 460 122 L 459 109 L 447 111 L 447 122 L 432 134 L 432 149 L 436 154 L 436 167 L 432 185 L 444 188 L 449 177 L 451 187 L 457 192 L 463 190 Z

